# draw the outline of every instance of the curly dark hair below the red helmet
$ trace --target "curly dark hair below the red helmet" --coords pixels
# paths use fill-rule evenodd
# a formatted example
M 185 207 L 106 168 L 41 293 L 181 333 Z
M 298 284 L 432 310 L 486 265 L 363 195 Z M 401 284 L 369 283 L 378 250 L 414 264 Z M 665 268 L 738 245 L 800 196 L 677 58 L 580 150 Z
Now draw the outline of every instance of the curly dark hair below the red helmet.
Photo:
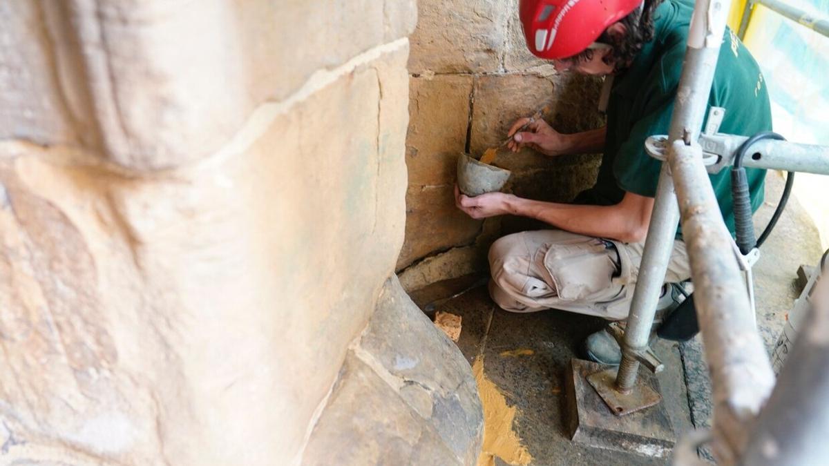
M 618 22 L 621 22 L 627 31 L 623 37 L 614 37 L 605 31 L 596 39 L 597 42 L 612 47 L 602 61 L 608 65 L 614 63 L 614 72 L 618 73 L 630 66 L 633 59 L 642 50 L 642 46 L 646 42 L 652 41 L 653 12 L 661 3 L 662 0 L 645 0 L 642 2 L 642 7 L 633 10 L 633 12 L 628 13 L 628 16 L 620 19 Z M 594 53 L 594 49 L 587 49 L 576 56 L 570 57 L 570 60 L 577 62 L 593 60 Z

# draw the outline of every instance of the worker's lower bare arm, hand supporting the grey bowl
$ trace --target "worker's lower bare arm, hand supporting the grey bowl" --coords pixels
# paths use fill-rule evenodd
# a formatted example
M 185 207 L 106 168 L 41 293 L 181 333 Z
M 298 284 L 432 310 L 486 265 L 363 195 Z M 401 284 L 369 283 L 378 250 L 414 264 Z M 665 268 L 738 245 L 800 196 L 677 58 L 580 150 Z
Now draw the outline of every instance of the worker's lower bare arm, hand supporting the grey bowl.
M 458 208 L 480 219 L 511 214 L 527 216 L 549 223 L 561 230 L 637 243 L 645 240 L 651 221 L 653 198 L 625 193 L 614 206 L 579 206 L 555 202 L 532 201 L 503 192 L 477 197 L 463 196 L 455 187 Z

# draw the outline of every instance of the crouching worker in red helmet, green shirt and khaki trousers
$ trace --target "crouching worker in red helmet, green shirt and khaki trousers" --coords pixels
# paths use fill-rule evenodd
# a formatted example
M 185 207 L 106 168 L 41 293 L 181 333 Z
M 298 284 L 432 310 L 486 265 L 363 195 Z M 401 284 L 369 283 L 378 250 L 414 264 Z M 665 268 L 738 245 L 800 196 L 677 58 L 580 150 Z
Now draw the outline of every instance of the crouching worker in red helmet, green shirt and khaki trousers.
M 533 54 L 552 61 L 559 72 L 604 75 L 613 82 L 603 128 L 565 134 L 543 119 L 519 119 L 508 133 L 512 151 L 529 147 L 550 158 L 603 153 L 594 187 L 574 203 L 502 192 L 467 197 L 456 187 L 458 208 L 473 218 L 509 214 L 553 226 L 507 235 L 492 245 L 489 291 L 502 308 L 628 317 L 662 166 L 647 155 L 644 143 L 649 136 L 668 133 L 692 10 L 691 0 L 520 0 L 526 45 Z M 725 108 L 720 132 L 748 136 L 771 129 L 763 75 L 730 29 L 723 37 L 708 105 Z M 763 202 L 765 171 L 747 172 L 756 211 Z M 734 235 L 728 171 L 710 175 L 710 182 Z M 690 276 L 680 230 L 665 280 L 678 284 Z M 676 291 L 675 285 L 662 287 L 657 317 L 676 307 Z M 587 337 L 583 349 L 596 362 L 621 360 L 607 328 Z

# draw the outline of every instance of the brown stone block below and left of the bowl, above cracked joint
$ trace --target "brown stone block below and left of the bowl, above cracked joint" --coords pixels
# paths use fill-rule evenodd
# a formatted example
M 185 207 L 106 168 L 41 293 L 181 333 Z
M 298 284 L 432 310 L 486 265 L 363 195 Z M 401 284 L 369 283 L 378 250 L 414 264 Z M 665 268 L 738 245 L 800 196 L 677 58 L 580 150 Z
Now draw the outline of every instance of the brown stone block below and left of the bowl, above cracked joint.
M 473 220 L 455 206 L 454 184 L 410 186 L 406 192 L 406 240 L 397 269 L 435 252 L 469 245 L 480 229 L 481 221 Z

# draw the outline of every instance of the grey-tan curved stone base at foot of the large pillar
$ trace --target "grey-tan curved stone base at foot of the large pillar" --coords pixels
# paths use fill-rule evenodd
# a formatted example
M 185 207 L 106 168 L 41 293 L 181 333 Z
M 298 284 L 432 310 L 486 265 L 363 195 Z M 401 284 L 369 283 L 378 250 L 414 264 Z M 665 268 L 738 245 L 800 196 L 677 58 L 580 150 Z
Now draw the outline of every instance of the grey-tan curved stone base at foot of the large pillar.
M 393 276 L 346 359 L 304 463 L 474 464 L 482 425 L 468 362 Z

